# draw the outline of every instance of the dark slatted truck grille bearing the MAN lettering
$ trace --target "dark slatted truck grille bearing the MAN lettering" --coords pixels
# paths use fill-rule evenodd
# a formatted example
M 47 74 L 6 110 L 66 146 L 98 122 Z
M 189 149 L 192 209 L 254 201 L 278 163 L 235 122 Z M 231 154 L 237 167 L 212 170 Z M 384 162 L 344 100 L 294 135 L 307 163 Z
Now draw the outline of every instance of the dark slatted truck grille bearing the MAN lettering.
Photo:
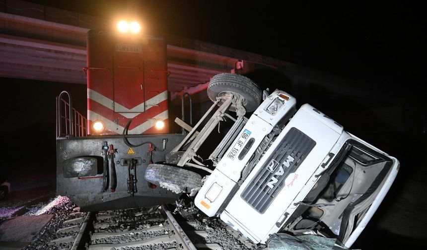
M 294 173 L 316 142 L 292 127 L 273 154 L 264 163 L 241 197 L 254 209 L 264 213 L 285 186 L 285 179 Z

